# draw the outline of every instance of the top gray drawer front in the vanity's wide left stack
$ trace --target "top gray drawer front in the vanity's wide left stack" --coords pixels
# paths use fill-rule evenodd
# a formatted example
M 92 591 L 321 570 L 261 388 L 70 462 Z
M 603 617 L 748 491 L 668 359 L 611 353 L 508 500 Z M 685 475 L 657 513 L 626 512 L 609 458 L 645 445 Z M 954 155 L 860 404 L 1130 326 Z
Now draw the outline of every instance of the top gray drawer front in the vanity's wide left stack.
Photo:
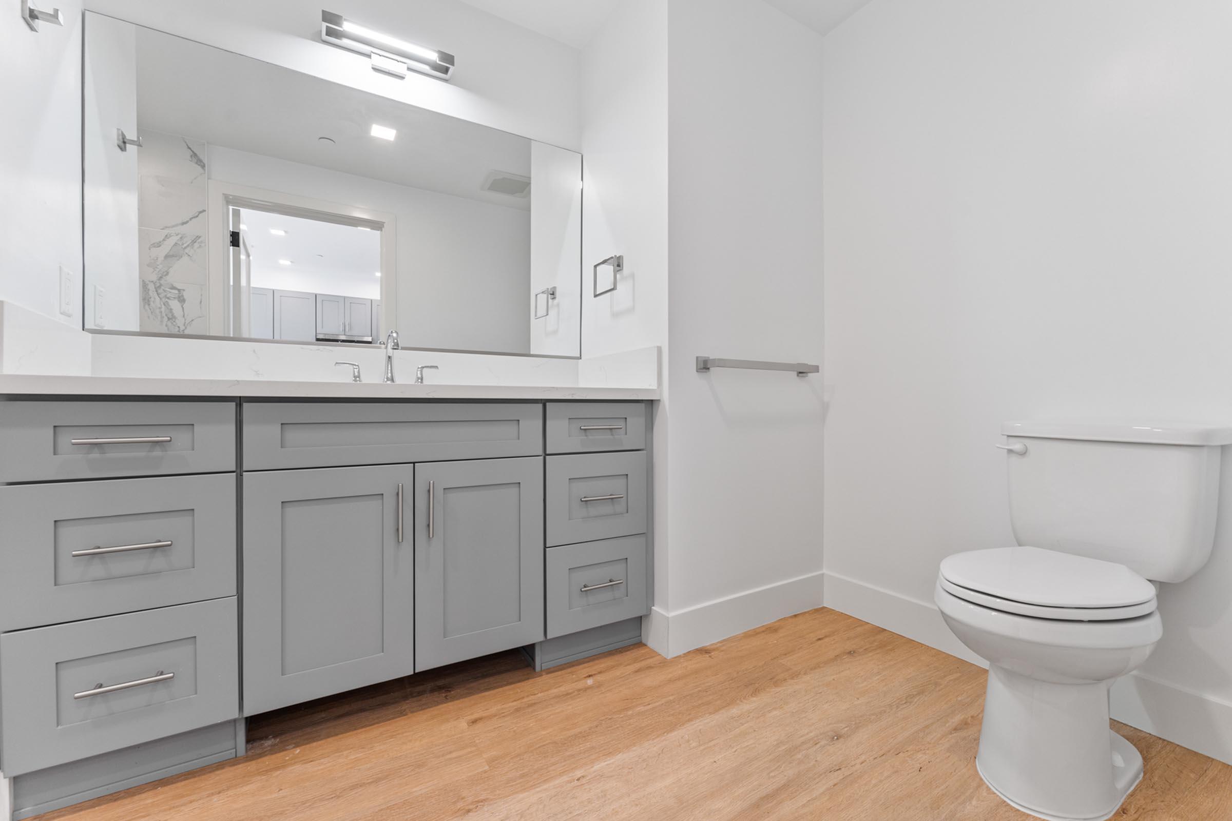
M 74 444 L 73 439 L 169 438 Z M 233 402 L 0 401 L 0 481 L 235 469 Z

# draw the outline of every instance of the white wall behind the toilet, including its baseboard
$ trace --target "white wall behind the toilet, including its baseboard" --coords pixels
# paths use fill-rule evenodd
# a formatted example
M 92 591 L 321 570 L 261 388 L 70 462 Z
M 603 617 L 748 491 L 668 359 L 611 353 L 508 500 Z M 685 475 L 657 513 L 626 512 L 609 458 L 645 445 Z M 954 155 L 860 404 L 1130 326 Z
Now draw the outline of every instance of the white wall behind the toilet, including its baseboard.
M 876 0 L 825 38 L 828 604 L 954 649 L 938 564 L 1013 543 L 1003 420 L 1232 416 L 1230 41 L 1214 0 Z M 1220 517 L 1112 705 L 1232 761 L 1232 480 Z

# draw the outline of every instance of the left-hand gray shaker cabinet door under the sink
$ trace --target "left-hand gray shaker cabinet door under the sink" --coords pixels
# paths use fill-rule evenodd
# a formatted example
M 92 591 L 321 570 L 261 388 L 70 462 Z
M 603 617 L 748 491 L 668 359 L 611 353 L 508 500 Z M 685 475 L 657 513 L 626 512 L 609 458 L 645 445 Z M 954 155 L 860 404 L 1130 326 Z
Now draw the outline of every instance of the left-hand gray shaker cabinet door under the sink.
M 244 715 L 414 672 L 413 483 L 411 465 L 244 475 Z

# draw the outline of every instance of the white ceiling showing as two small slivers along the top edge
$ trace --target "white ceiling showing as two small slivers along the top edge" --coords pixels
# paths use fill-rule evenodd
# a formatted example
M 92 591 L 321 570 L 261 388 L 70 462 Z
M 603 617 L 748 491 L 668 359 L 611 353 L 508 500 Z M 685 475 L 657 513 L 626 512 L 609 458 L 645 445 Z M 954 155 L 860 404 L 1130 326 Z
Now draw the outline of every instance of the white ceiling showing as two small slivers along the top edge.
M 621 0 L 461 0 L 574 48 L 590 38 Z M 813 31 L 828 34 L 872 0 L 766 0 Z

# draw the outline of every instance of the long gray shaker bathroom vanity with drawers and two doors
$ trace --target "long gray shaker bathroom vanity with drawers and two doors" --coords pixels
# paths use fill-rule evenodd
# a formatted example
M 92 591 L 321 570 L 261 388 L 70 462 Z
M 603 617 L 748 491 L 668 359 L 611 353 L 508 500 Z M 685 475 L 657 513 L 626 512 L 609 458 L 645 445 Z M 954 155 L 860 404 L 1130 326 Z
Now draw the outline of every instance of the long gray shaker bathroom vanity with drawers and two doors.
M 266 710 L 641 640 L 647 401 L 39 394 L 49 380 L 0 390 L 14 819 L 243 755 Z

